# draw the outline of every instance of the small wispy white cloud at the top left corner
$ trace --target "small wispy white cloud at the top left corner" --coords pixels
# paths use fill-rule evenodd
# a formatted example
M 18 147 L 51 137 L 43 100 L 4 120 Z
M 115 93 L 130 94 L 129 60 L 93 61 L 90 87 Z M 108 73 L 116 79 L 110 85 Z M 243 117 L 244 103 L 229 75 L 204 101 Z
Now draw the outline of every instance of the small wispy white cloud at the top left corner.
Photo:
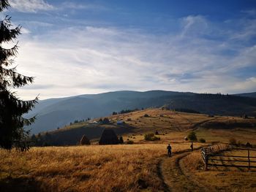
M 10 0 L 12 8 L 20 12 L 37 12 L 39 10 L 47 11 L 54 9 L 53 5 L 44 0 Z

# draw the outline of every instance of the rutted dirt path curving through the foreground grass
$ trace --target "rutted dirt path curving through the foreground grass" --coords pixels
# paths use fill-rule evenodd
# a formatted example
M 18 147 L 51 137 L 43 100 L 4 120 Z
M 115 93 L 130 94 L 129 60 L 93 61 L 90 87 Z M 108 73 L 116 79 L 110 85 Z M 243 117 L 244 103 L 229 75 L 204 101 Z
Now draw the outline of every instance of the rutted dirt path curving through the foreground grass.
M 159 178 L 162 180 L 165 191 L 206 191 L 202 186 L 189 179 L 180 166 L 182 158 L 191 152 L 183 151 L 173 154 L 172 157 L 163 157 L 159 161 Z

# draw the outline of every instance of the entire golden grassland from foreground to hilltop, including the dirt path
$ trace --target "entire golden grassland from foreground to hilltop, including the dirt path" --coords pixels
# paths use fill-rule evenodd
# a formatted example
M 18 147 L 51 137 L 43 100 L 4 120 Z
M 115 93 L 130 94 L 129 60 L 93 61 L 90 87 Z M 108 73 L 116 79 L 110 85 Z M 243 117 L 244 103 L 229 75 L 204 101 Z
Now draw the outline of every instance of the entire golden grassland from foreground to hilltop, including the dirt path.
M 124 142 L 132 140 L 133 145 L 97 145 L 99 138 L 94 138 L 90 146 L 32 147 L 24 153 L 0 150 L 0 191 L 256 190 L 255 169 L 248 172 L 211 167 L 205 171 L 199 149 L 228 143 L 231 138 L 240 144 L 256 145 L 255 118 L 209 117 L 161 109 L 108 118 L 108 125 L 77 123 L 52 134 L 66 133 L 67 137 L 77 129 L 100 126 L 113 128 Z M 117 125 L 117 120 L 124 120 L 124 125 Z M 144 139 L 144 134 L 155 131 L 160 140 Z M 195 131 L 198 139 L 206 139 L 204 144 L 195 142 L 193 152 L 184 139 L 190 131 Z M 79 133 L 75 143 L 81 137 Z M 170 158 L 168 143 L 173 147 Z

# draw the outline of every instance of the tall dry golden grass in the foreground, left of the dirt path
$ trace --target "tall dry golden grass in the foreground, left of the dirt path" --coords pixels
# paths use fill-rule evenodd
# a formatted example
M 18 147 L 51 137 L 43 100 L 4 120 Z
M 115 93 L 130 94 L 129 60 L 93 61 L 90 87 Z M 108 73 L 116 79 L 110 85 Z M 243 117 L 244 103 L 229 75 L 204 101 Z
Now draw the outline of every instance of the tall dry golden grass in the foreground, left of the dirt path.
M 149 191 L 162 191 L 157 164 L 166 155 L 166 146 L 33 147 L 26 153 L 0 150 L 0 189 L 140 191 L 147 186 Z M 189 148 L 188 143 L 172 146 L 174 153 Z

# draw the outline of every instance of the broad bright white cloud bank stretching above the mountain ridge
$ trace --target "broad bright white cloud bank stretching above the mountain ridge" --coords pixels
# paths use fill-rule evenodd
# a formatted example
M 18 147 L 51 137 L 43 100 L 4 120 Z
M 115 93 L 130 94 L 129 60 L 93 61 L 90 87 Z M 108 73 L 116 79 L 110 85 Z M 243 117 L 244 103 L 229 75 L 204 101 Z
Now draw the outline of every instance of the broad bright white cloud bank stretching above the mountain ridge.
M 40 93 L 46 99 L 116 90 L 255 91 L 255 77 L 236 75 L 243 67 L 255 66 L 255 46 L 234 47 L 229 36 L 222 42 L 199 35 L 191 38 L 201 29 L 193 28 L 195 23 L 207 30 L 211 27 L 206 18 L 194 17 L 179 34 L 162 36 L 74 26 L 23 37 L 16 59 L 18 71 L 37 78 L 18 93 L 26 99 Z M 223 54 L 226 50 L 236 54 Z

